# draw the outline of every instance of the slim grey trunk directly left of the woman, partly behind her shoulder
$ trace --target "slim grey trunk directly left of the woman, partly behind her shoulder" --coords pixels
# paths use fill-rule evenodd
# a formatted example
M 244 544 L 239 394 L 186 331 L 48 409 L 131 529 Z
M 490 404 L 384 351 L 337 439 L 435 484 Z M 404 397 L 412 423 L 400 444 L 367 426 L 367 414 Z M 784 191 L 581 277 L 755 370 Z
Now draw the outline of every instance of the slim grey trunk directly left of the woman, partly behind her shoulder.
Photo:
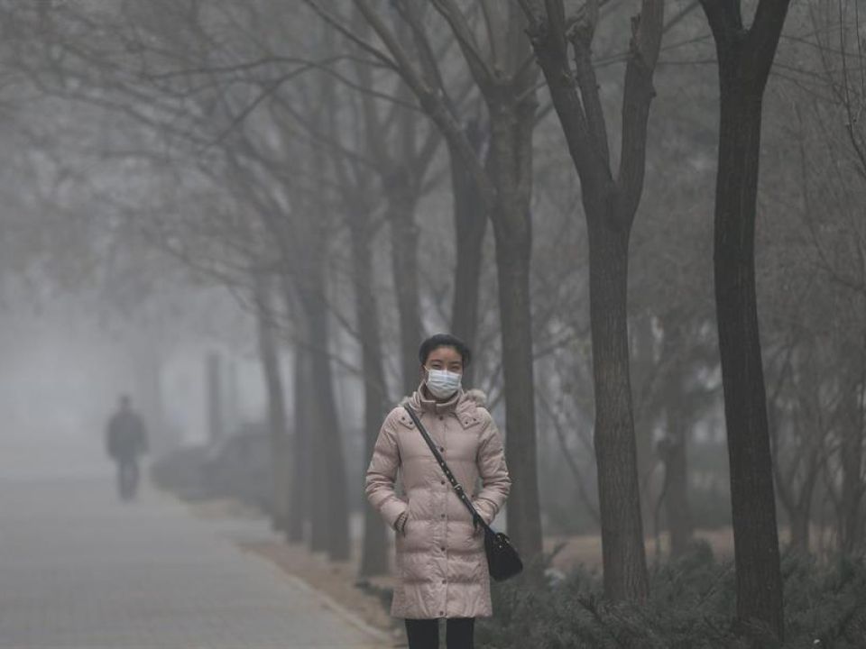
M 364 369 L 364 436 L 366 453 L 364 469 L 373 456 L 373 446 L 385 415 L 385 373 L 382 368 L 382 337 L 379 312 L 373 291 L 373 264 L 371 263 L 370 218 L 367 214 L 351 217 L 353 283 L 355 285 L 355 312 L 361 336 L 362 365 Z M 388 571 L 388 543 L 382 518 L 373 507 L 364 507 L 364 545 L 361 553 L 361 576 L 383 574 Z

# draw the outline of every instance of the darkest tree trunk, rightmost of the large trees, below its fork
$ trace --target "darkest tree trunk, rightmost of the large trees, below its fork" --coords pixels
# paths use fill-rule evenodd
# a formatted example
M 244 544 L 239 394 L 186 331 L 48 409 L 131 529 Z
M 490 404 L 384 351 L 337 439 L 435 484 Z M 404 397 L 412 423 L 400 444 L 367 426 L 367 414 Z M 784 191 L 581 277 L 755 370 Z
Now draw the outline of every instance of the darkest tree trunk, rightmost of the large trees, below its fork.
M 723 51 L 728 47 L 728 51 Z M 715 303 L 728 431 L 737 617 L 781 638 L 782 581 L 767 398 L 755 292 L 761 95 L 742 78 L 743 48 L 718 45 L 721 86 L 716 178 Z

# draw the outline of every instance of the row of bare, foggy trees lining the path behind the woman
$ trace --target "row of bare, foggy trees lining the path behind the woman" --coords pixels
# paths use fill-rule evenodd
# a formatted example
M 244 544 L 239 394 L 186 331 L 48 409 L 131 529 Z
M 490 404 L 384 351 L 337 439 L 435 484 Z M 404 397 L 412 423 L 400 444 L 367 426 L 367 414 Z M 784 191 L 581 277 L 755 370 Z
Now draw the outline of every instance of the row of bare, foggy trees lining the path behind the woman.
M 795 544 L 808 544 L 822 478 L 845 549 L 863 526 L 859 23 L 841 0 L 796 15 L 760 184 L 788 2 L 760 0 L 749 21 L 738 0 L 700 7 L 152 0 L 4 3 L 3 18 L 16 87 L 124 124 L 79 151 L 108 178 L 88 187 L 106 214 L 251 307 L 274 522 L 290 541 L 350 553 L 335 371 L 363 388 L 368 456 L 417 383 L 419 340 L 449 329 L 479 350 L 467 379 L 504 415 L 513 540 L 542 552 L 539 433 L 553 432 L 597 516 L 612 599 L 648 594 L 654 455 L 672 548 L 685 548 L 686 440 L 721 388 L 738 615 L 781 636 L 777 491 Z M 134 182 L 117 191 L 120 177 Z M 699 279 L 713 196 L 714 305 Z M 763 268 L 759 206 L 781 233 L 763 242 Z M 756 277 L 777 293 L 762 302 L 763 357 Z M 571 455 L 584 431 L 592 467 Z M 385 570 L 384 534 L 367 509 L 364 574 Z

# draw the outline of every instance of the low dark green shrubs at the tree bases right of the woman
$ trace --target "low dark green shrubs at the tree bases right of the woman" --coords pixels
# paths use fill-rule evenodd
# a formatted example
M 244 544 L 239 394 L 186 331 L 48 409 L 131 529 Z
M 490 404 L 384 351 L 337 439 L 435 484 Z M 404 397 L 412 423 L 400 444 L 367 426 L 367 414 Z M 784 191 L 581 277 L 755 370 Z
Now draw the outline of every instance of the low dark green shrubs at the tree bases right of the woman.
M 866 647 L 866 562 L 818 565 L 787 554 L 784 644 L 767 629 L 733 624 L 734 572 L 708 544 L 650 571 L 650 600 L 638 607 L 602 597 L 599 575 L 578 568 L 557 583 L 493 584 L 494 617 L 479 621 L 486 649 L 862 649 Z

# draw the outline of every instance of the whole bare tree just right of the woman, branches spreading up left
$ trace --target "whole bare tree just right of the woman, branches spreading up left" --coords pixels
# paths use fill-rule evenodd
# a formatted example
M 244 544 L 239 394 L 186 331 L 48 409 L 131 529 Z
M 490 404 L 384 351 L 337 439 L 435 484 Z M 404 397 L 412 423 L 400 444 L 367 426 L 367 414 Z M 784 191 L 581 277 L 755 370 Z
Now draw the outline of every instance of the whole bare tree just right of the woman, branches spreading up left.
M 502 327 L 502 370 L 505 381 L 506 452 L 514 487 L 509 499 L 512 539 L 530 557 L 541 552 L 541 524 L 536 466 L 535 404 L 530 315 L 530 197 L 532 187 L 532 130 L 535 125 L 535 78 L 525 23 L 511 2 L 484 3 L 483 47 L 474 25 L 454 0 L 432 5 L 454 33 L 490 117 L 487 164 L 461 126 L 447 100 L 441 75 L 426 68 L 428 57 L 413 60 L 401 39 L 369 0 L 355 0 L 386 51 L 359 38 L 335 14 L 314 0 L 305 0 L 327 23 L 362 50 L 400 75 L 419 105 L 437 125 L 451 151 L 467 165 L 484 211 L 493 224 Z M 418 33 L 419 4 L 395 4 Z M 421 47 L 423 50 L 424 48 Z M 479 239 L 480 241 L 480 239 Z

